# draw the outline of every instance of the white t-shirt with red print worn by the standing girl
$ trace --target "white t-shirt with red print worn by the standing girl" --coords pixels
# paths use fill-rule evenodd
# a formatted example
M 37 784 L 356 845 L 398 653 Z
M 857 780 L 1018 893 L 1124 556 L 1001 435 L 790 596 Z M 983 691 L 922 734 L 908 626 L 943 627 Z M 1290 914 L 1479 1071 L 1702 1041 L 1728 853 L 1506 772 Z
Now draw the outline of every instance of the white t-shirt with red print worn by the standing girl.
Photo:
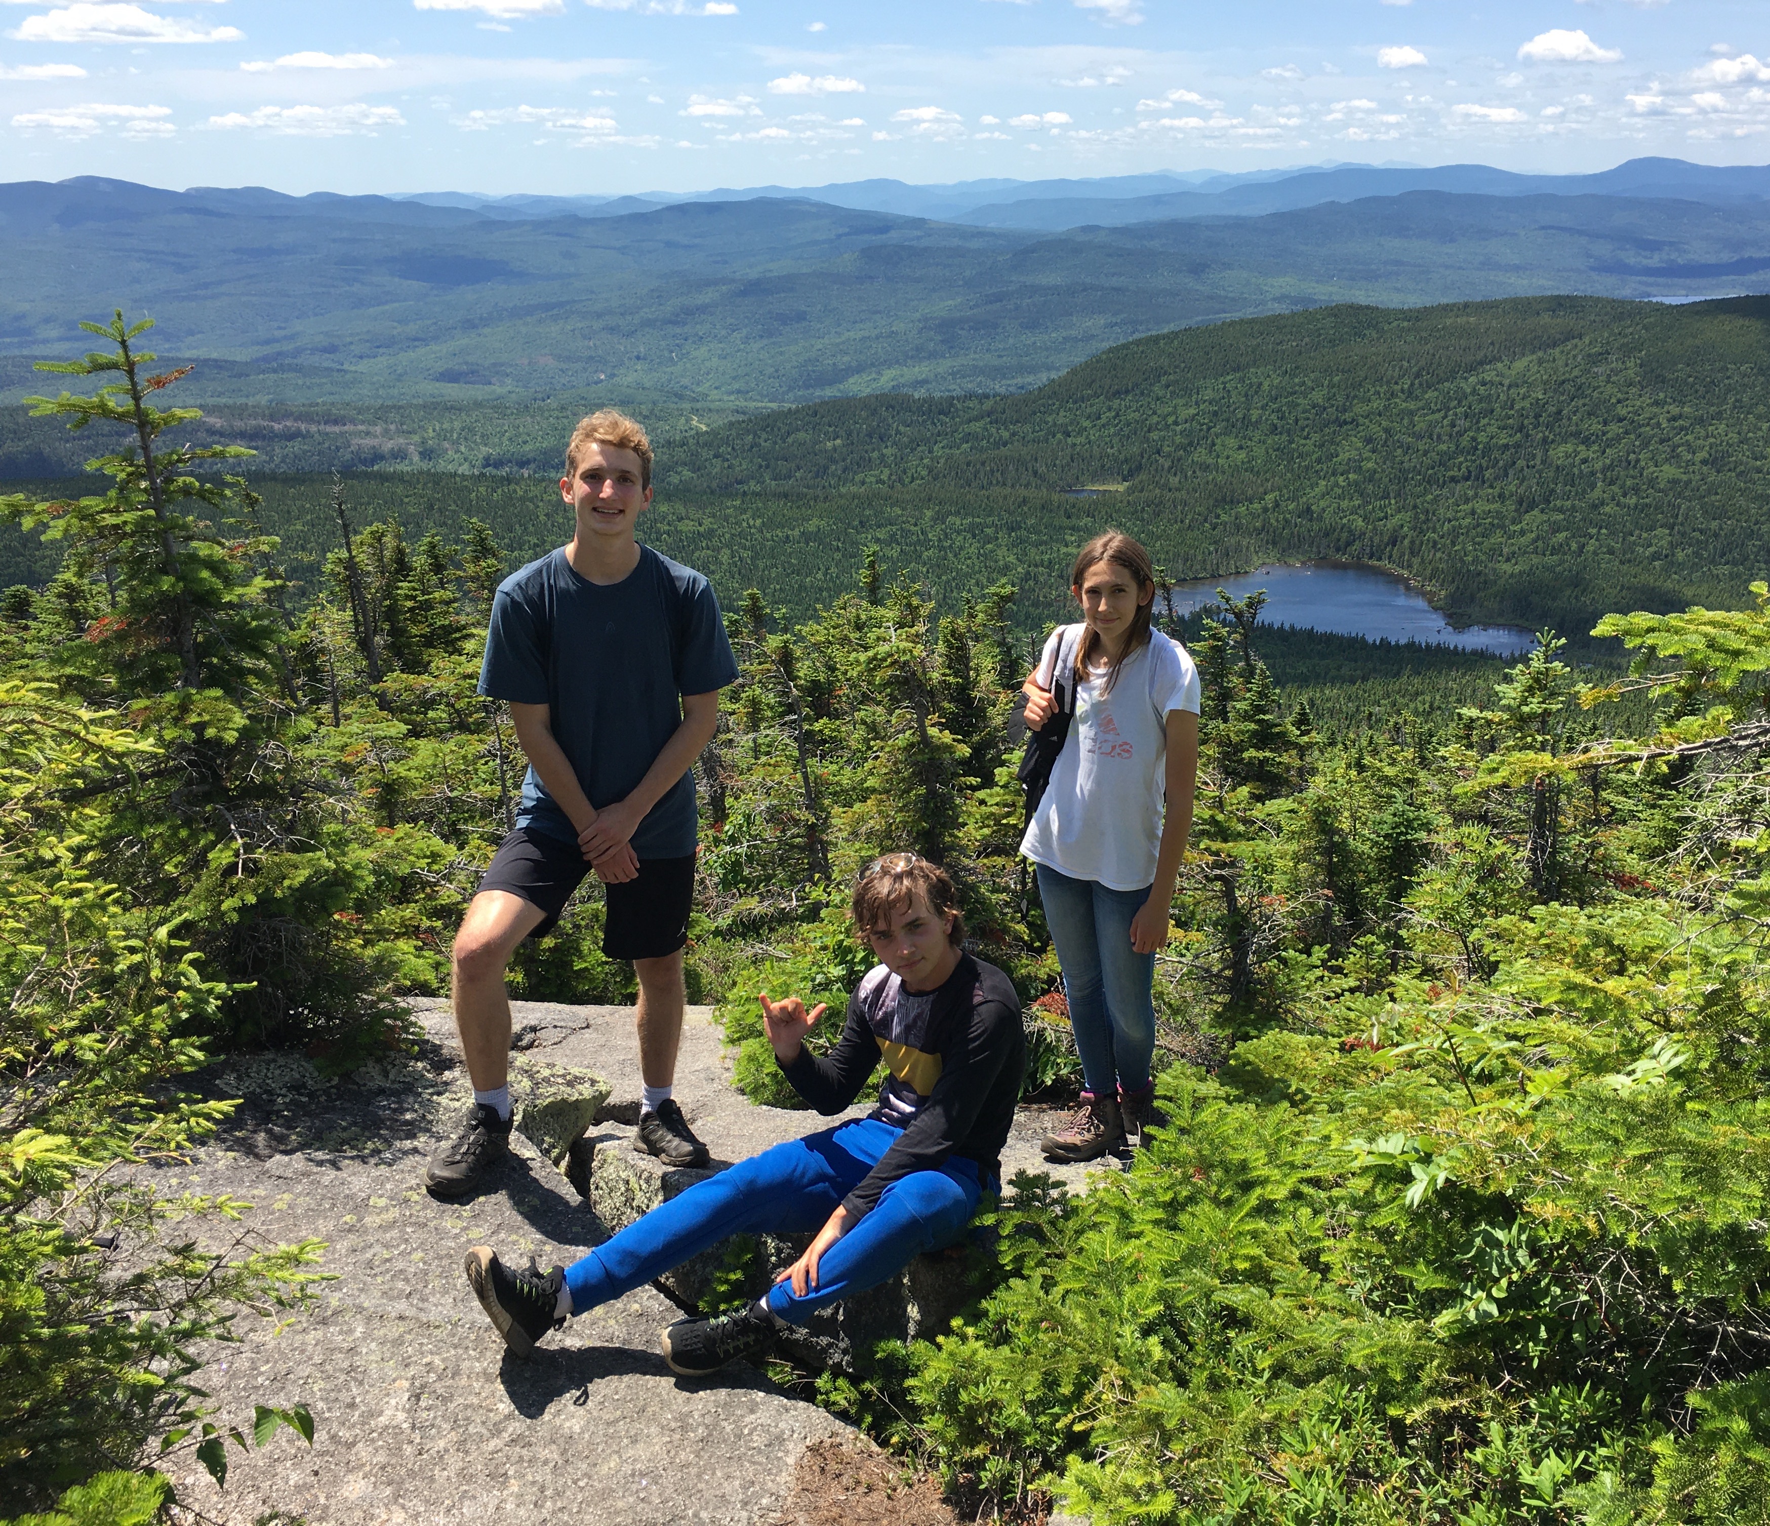
M 1051 632 L 1039 659 L 1039 687 L 1051 687 L 1058 646 L 1073 662 L 1081 636 L 1080 625 Z M 1106 664 L 1096 664 L 1094 673 L 1076 685 L 1069 736 L 1020 852 L 1074 880 L 1142 890 L 1156 880 L 1161 848 L 1168 712 L 1198 713 L 1198 669 L 1181 643 L 1152 632 L 1119 669 L 1112 694 L 1103 692 Z

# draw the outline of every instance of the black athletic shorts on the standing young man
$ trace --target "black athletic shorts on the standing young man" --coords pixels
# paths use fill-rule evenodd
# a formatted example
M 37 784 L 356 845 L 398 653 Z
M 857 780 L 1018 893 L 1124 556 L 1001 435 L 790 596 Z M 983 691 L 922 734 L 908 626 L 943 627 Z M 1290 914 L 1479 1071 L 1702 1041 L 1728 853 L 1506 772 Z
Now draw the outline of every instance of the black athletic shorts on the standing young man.
M 589 873 L 577 843 L 517 827 L 504 837 L 474 894 L 508 890 L 540 906 L 547 917 L 529 936 L 545 938 Z M 637 880 L 602 889 L 609 898 L 602 952 L 611 960 L 660 960 L 689 942 L 694 853 L 687 859 L 641 859 Z

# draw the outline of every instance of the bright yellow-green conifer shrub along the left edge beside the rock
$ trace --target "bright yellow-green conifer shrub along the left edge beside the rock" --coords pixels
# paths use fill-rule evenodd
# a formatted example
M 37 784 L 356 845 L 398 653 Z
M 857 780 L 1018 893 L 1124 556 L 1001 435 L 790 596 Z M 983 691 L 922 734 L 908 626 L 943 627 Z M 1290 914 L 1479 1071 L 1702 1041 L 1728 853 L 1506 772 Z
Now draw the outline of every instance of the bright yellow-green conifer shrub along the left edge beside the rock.
M 96 875 L 94 807 L 67 805 L 73 782 L 152 751 L 42 685 L 0 683 L 0 1508 L 16 1510 L 129 1469 L 156 1436 L 207 1446 L 196 1351 L 241 1308 L 297 1305 L 322 1246 L 264 1245 L 228 1227 L 244 1204 L 161 1198 L 124 1170 L 232 1110 L 172 1091 L 227 988 Z

